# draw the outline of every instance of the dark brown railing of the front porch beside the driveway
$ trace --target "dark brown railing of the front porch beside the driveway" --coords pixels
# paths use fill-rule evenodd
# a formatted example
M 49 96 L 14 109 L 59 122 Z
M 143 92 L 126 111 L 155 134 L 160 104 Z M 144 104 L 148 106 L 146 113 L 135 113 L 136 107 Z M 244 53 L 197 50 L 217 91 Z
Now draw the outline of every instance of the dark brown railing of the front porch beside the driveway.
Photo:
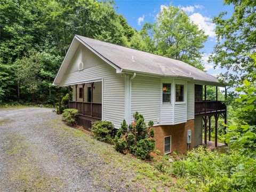
M 101 119 L 101 103 L 69 101 L 69 108 L 77 109 L 80 115 Z

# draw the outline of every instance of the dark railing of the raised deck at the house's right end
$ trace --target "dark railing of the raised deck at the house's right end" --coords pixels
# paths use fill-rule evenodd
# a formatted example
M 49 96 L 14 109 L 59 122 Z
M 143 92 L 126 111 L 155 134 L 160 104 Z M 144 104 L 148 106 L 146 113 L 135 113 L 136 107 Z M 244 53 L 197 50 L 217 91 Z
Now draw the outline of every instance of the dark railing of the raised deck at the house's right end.
M 195 115 L 223 113 L 225 111 L 226 105 L 223 101 L 195 101 Z

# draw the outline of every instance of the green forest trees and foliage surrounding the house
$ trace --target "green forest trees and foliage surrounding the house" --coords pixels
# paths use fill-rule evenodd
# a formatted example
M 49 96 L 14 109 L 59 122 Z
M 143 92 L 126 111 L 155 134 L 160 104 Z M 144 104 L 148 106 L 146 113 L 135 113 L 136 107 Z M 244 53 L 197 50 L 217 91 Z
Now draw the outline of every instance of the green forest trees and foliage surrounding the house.
M 209 62 L 225 68 L 228 87 L 228 153 L 195 150 L 173 164 L 173 174 L 189 189 L 255 191 L 256 188 L 256 1 L 224 0 L 234 12 L 213 18 L 217 44 Z M 75 34 L 178 59 L 205 70 L 207 39 L 179 7 L 169 6 L 140 31 L 115 11 L 114 1 L 3 0 L 0 4 L 0 106 L 55 106 L 52 85 Z M 235 91 L 230 91 L 235 90 Z M 61 97 L 67 89 L 60 89 Z M 209 89 L 214 98 L 214 88 Z M 221 95 L 221 93 L 219 94 Z M 225 98 L 222 95 L 222 99 Z M 193 169 L 194 167 L 194 169 Z M 202 167 L 202 169 L 198 169 Z M 204 168 L 203 168 L 204 167 Z

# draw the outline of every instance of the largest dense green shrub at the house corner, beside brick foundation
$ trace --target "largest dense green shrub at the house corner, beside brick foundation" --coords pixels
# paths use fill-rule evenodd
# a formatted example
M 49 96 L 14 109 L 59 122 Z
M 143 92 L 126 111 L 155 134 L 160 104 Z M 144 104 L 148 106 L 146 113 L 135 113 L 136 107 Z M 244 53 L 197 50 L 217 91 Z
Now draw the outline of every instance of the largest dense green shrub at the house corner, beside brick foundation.
M 121 124 L 114 147 L 121 153 L 130 152 L 141 159 L 150 159 L 149 154 L 155 148 L 154 130 L 151 129 L 154 123 L 149 121 L 147 125 L 143 115 L 138 112 L 134 113 L 133 117 L 134 122 L 131 125 L 128 126 L 125 120 Z

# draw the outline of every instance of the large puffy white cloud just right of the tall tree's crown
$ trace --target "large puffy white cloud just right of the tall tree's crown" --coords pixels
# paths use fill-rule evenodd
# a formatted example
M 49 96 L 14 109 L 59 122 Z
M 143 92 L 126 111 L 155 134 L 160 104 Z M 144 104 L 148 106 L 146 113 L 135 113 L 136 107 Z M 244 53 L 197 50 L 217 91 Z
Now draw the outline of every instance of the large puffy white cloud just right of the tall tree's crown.
M 215 37 L 216 34 L 214 33 L 214 29 L 216 25 L 212 22 L 211 18 L 203 17 L 200 13 L 193 13 L 189 18 L 199 27 L 199 29 L 204 30 L 206 35 Z

